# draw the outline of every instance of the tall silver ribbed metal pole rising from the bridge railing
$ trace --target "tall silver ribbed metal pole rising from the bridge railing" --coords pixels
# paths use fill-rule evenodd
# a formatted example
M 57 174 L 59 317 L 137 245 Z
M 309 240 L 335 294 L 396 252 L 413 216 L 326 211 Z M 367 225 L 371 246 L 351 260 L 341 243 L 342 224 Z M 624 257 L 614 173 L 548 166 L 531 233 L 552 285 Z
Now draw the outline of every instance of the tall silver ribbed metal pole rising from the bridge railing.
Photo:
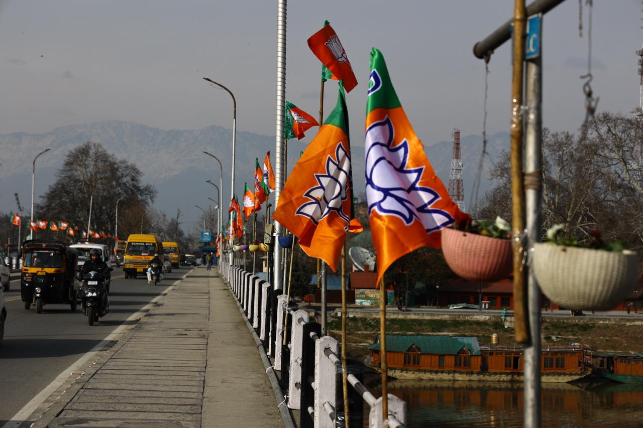
M 276 126 L 275 126 L 275 208 L 279 202 L 279 195 L 284 187 L 284 105 L 285 105 L 285 35 L 286 35 L 286 0 L 277 0 L 277 78 L 276 78 Z M 281 235 L 282 226 L 275 221 L 273 236 Z M 282 253 L 279 245 L 274 243 L 273 248 L 273 289 L 284 288 L 281 276 Z

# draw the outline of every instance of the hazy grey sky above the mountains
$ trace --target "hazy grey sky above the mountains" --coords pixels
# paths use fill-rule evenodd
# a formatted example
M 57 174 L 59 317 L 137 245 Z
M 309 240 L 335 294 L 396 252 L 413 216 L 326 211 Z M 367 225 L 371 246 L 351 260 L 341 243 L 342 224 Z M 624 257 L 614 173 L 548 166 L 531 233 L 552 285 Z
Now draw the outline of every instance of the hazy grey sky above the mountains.
M 347 95 L 352 145 L 363 145 L 370 49 L 386 58 L 401 103 L 426 145 L 482 132 L 484 62 L 476 41 L 512 15 L 513 0 L 290 1 L 287 100 L 318 116 L 320 62 L 306 40 L 328 19 L 359 85 Z M 585 1 L 583 1 L 583 4 Z M 638 0 L 594 0 L 592 87 L 599 110 L 638 107 L 643 42 Z M 100 120 L 161 129 L 231 127 L 275 134 L 276 0 L 0 0 L 0 134 Z M 543 27 L 543 121 L 575 130 L 584 118 L 588 9 L 567 0 Z M 487 132 L 509 130 L 509 44 L 489 64 Z M 336 103 L 327 84 L 325 112 Z M 309 142 L 309 131 L 301 147 Z M 293 140 L 294 146 L 300 144 Z M 251 150 L 238 148 L 237 150 Z M 263 154 L 258 153 L 257 157 Z M 1 158 L 1 157 L 0 157 Z M 30 165 L 25 165 L 25 168 Z

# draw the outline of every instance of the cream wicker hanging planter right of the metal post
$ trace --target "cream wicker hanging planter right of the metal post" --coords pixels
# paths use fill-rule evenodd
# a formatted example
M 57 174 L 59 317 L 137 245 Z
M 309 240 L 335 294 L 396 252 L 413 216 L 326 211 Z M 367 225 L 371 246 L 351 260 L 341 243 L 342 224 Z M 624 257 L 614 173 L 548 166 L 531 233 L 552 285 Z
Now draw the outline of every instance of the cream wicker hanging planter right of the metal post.
M 565 308 L 610 310 L 637 287 L 633 251 L 534 244 L 532 266 L 548 298 Z

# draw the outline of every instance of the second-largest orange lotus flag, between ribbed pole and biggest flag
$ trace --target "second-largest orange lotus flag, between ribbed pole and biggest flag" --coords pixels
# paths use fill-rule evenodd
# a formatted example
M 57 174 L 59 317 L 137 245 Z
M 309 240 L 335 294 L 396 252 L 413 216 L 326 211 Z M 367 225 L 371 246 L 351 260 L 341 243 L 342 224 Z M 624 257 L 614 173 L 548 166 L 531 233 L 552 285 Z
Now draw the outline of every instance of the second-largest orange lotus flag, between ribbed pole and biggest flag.
M 333 271 L 353 217 L 351 181 L 349 117 L 340 84 L 337 106 L 294 165 L 273 214 L 306 254 Z

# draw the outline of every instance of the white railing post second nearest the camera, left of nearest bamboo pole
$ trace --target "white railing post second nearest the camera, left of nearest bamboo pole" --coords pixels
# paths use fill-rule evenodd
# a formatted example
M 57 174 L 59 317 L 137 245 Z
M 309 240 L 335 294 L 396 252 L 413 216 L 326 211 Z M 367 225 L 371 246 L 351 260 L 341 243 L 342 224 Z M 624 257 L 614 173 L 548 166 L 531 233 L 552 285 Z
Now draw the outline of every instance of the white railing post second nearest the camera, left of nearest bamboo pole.
M 315 428 L 335 428 L 335 421 L 324 409 L 328 403 L 337 407 L 335 393 L 337 387 L 337 366 L 324 353 L 329 350 L 337 354 L 340 346 L 331 336 L 323 336 L 315 342 L 315 405 L 314 405 L 314 426 Z

